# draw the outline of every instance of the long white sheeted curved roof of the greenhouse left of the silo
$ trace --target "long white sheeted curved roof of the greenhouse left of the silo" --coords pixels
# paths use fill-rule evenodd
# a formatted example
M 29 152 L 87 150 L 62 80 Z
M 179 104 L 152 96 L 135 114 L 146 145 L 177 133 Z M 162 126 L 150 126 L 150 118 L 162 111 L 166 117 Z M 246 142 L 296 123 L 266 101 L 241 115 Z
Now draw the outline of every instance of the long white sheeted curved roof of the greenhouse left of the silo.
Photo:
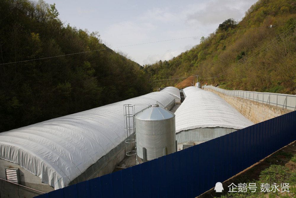
M 97 107 L 0 133 L 0 159 L 19 164 L 54 189 L 63 188 L 125 140 L 123 104 L 162 104 L 165 92 Z M 135 112 L 145 106 L 136 105 Z

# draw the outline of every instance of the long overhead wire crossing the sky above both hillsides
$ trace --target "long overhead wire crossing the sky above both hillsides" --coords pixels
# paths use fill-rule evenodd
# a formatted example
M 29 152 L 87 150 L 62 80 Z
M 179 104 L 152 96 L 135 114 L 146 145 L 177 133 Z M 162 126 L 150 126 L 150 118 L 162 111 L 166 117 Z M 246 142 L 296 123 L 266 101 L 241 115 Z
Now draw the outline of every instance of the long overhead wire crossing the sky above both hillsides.
M 267 27 L 270 27 L 270 26 L 267 26 Z M 249 29 L 243 29 L 243 30 L 230 31 L 230 32 L 227 32 L 227 33 L 233 33 L 233 32 L 239 32 L 239 31 L 246 31 L 246 30 L 250 30 L 250 29 L 267 28 L 267 27 L 249 28 Z M 221 33 L 217 33 L 217 34 L 223 34 L 223 33 L 225 33 L 225 32 L 221 32 Z M 92 51 L 85 51 L 85 52 L 77 52 L 77 53 L 64 54 L 64 55 L 59 55 L 59 56 L 50 56 L 50 57 L 44 57 L 44 58 L 35 58 L 35 59 L 30 59 L 30 60 L 24 60 L 24 61 L 15 61 L 15 62 L 10 62 L 10 63 L 1 63 L 0 65 L 7 65 L 7 64 L 13 64 L 13 63 L 22 63 L 22 62 L 28 62 L 28 61 L 37 61 L 37 60 L 43 60 L 43 59 L 49 59 L 49 58 L 57 58 L 57 57 L 61 57 L 61 56 L 70 56 L 70 55 L 75 55 L 75 54 L 97 52 L 97 51 L 103 51 L 103 50 L 109 50 L 109 49 L 117 49 L 117 48 L 121 48 L 121 47 L 131 47 L 131 46 L 136 46 L 136 45 L 147 45 L 147 44 L 152 44 L 152 43 L 167 42 L 167 41 L 174 41 L 174 40 L 181 40 L 181 39 L 189 39 L 189 38 L 195 38 L 195 37 L 204 37 L 204 36 L 209 36 L 209 35 L 210 34 L 205 34 L 205 35 L 192 36 L 192 37 L 183 37 L 183 38 L 177 38 L 177 39 L 168 39 L 168 40 L 161 40 L 161 41 L 154 41 L 154 42 L 147 42 L 147 43 L 139 43 L 139 44 L 133 44 L 133 45 L 124 45 L 124 46 L 120 46 L 120 47 L 104 48 L 104 49 L 99 49 L 99 50 L 92 50 Z

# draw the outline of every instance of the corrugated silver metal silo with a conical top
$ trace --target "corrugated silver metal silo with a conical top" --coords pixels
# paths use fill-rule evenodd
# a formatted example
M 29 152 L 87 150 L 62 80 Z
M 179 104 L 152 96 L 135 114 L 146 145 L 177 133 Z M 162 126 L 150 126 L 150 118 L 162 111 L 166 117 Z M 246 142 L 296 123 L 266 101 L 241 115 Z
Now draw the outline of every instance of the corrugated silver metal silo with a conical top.
M 143 161 L 156 159 L 176 151 L 175 114 L 158 105 L 136 115 L 137 155 Z M 143 149 L 144 148 L 144 149 Z M 144 159 L 146 152 L 146 158 Z

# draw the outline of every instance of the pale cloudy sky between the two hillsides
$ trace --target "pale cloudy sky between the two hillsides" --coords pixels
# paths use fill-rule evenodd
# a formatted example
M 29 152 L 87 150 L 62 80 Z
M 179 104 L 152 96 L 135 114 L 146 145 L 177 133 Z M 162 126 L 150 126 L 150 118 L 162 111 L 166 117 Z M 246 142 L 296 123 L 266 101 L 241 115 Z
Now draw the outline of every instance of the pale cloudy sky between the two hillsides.
M 170 60 L 200 43 L 223 21 L 242 20 L 257 0 L 45 0 L 60 20 L 99 32 L 102 43 L 140 65 Z

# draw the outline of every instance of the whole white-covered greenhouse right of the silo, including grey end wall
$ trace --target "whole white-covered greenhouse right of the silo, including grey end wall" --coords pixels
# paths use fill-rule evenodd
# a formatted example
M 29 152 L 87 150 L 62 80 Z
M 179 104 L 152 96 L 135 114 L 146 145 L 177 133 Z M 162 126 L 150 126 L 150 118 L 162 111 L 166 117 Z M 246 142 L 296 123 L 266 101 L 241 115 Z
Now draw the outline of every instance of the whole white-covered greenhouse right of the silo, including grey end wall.
M 178 143 L 212 140 L 254 124 L 210 91 L 191 86 L 183 92 L 186 98 L 175 112 Z

